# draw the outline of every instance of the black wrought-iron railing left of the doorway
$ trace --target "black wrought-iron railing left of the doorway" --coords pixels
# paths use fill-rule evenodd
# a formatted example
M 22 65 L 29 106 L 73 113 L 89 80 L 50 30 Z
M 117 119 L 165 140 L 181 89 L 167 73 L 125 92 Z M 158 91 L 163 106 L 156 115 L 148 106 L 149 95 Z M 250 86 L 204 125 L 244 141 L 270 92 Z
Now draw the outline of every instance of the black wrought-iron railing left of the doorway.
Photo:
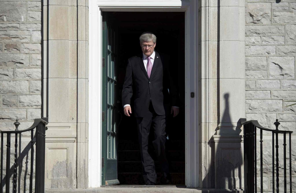
M 34 163 L 34 144 L 36 143 L 35 148 L 35 192 L 44 193 L 44 164 L 45 164 L 45 130 L 46 124 L 48 123 L 48 118 L 35 119 L 33 125 L 25 130 L 18 130 L 18 126 L 20 123 L 16 120 L 15 130 L 11 131 L 0 131 L 1 133 L 1 173 L 0 173 L 0 193 L 3 192 L 3 187 L 5 184 L 5 192 L 9 193 L 10 187 L 10 177 L 11 170 L 13 171 L 13 180 L 12 180 L 12 192 L 20 193 L 20 180 L 21 180 L 21 172 L 22 172 L 22 152 L 21 152 L 21 142 L 22 142 L 22 133 L 31 132 L 31 141 L 30 141 L 30 150 L 31 150 L 31 163 L 30 163 L 30 184 L 29 184 L 29 192 L 33 192 L 33 163 Z M 36 128 L 36 129 L 35 129 Z M 34 135 L 35 131 L 35 135 Z M 7 150 L 6 150 L 6 171 L 5 176 L 3 178 L 3 135 L 7 135 Z M 13 168 L 10 168 L 10 138 L 11 135 L 15 135 L 15 159 Z M 19 144 L 17 143 L 19 141 Z M 17 153 L 17 147 L 19 149 L 19 153 Z M 18 169 L 18 172 L 17 172 Z M 5 180 L 4 180 L 5 179 Z

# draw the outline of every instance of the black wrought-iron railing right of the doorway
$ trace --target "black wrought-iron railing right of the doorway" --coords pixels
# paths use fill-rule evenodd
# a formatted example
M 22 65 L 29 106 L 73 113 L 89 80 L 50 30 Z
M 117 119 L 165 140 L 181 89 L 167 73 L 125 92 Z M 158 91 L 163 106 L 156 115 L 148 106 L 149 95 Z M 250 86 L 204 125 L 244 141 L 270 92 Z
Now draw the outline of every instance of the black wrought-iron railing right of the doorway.
M 260 129 L 260 190 L 263 192 L 263 130 L 272 133 L 272 188 L 273 192 L 279 193 L 279 134 L 284 137 L 284 192 L 287 192 L 287 164 L 286 164 L 286 134 L 289 134 L 289 172 L 290 172 L 290 192 L 292 193 L 292 167 L 291 167 L 291 134 L 292 131 L 282 131 L 278 129 L 279 122 L 276 119 L 274 125 L 276 129 L 267 129 L 261 126 L 258 121 L 240 119 L 244 126 L 244 192 L 257 192 L 257 129 Z M 275 146 L 274 146 L 274 135 Z M 274 164 L 274 147 L 276 149 L 276 164 Z M 276 176 L 274 176 L 274 165 L 276 166 Z M 276 183 L 275 183 L 276 177 Z M 276 184 L 276 189 L 275 189 Z

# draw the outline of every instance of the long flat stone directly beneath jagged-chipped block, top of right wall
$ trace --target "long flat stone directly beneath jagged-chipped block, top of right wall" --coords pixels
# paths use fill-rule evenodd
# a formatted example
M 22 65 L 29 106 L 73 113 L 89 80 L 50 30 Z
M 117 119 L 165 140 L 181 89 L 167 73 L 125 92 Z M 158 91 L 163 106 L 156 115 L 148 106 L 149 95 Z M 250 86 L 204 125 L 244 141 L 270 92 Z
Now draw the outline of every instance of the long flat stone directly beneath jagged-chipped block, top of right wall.
M 284 35 L 285 26 L 283 25 L 246 25 L 246 35 Z

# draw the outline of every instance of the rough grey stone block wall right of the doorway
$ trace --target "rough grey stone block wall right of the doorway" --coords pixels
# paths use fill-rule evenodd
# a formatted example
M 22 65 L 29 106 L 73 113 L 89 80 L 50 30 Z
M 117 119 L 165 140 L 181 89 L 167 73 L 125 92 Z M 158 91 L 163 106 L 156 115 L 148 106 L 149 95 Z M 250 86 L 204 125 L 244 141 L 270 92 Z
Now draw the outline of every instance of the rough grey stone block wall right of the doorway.
M 271 129 L 275 129 L 273 123 L 279 119 L 279 129 L 294 132 L 293 141 L 296 137 L 296 105 L 287 106 L 296 103 L 291 102 L 296 99 L 296 1 L 246 1 L 245 22 L 246 118 L 258 120 Z M 268 134 L 263 136 L 266 150 L 263 155 L 263 189 L 266 191 L 272 190 L 271 139 Z M 280 166 L 283 166 L 282 144 L 281 140 Z M 296 190 L 295 151 L 295 145 L 292 145 L 293 190 Z M 257 158 L 260 161 L 259 154 Z M 283 191 L 283 169 L 280 169 L 280 176 L 280 190 Z

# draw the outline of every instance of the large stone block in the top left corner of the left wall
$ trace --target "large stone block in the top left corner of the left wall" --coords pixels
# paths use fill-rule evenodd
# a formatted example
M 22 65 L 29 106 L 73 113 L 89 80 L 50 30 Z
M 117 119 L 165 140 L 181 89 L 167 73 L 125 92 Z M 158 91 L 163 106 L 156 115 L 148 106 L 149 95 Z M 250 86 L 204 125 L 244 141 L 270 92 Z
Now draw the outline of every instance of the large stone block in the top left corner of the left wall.
M 26 2 L 10 1 L 1 2 L 0 22 L 22 22 L 26 21 Z

